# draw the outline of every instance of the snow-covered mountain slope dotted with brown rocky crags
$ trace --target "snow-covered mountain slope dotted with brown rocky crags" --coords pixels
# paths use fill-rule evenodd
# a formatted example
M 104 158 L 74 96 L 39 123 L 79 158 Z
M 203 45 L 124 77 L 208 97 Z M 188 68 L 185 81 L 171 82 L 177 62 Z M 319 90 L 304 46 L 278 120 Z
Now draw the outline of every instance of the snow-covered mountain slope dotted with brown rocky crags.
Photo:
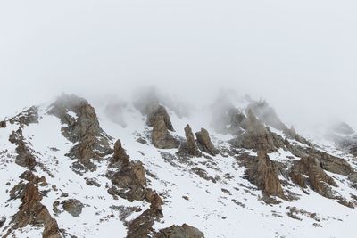
M 223 101 L 63 94 L 4 119 L 0 234 L 355 237 L 354 141 L 311 141 L 266 102 Z

